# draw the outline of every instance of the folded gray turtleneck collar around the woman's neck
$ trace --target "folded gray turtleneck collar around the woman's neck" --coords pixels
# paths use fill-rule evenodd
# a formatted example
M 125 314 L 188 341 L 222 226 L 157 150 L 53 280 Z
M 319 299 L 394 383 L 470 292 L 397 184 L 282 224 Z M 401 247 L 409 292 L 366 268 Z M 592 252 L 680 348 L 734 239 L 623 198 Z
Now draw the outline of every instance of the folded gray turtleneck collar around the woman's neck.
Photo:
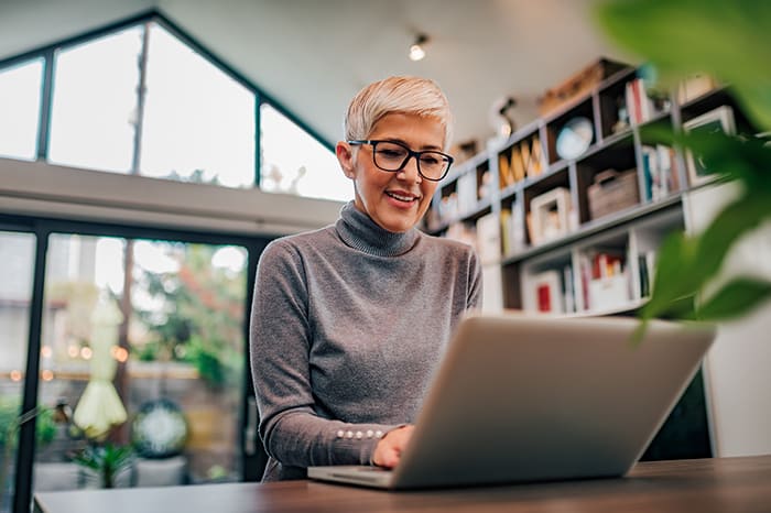
M 415 228 L 403 233 L 383 229 L 367 214 L 359 211 L 354 201 L 343 207 L 335 229 L 347 245 L 376 256 L 404 254 L 420 238 L 420 232 Z

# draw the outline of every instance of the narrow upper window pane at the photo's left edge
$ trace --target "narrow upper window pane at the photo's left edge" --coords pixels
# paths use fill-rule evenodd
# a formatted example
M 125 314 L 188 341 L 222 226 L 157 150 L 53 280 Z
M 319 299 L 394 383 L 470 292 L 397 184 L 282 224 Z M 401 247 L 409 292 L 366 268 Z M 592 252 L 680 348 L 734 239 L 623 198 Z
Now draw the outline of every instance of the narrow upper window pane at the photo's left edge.
M 0 156 L 34 160 L 43 59 L 0 70 Z

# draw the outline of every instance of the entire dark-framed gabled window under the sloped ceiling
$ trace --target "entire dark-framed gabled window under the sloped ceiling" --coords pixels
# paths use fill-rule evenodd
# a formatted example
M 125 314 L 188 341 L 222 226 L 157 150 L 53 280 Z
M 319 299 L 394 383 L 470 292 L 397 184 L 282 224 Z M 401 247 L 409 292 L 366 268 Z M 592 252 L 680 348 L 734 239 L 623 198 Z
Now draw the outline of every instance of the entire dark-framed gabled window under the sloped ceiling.
M 2 156 L 352 196 L 328 143 L 158 13 L 31 55 L 21 65 L 0 63 Z

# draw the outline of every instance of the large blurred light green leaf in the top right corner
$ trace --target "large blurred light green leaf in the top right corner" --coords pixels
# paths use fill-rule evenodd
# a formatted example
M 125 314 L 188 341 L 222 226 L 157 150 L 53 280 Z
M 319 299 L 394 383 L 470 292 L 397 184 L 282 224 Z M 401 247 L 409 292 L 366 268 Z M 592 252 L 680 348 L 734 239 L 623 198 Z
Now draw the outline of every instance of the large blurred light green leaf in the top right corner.
M 702 72 L 731 84 L 754 123 L 771 128 L 771 2 L 604 1 L 597 19 L 670 83 Z

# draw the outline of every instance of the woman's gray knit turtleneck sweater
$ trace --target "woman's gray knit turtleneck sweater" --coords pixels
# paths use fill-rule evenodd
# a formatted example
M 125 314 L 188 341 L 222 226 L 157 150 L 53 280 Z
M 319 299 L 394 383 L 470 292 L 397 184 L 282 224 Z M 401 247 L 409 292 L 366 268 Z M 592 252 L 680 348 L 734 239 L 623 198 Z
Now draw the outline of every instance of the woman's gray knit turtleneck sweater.
M 414 422 L 453 330 L 480 297 L 469 245 L 383 230 L 352 203 L 333 226 L 271 242 L 250 327 L 263 481 L 370 463 L 383 434 Z

